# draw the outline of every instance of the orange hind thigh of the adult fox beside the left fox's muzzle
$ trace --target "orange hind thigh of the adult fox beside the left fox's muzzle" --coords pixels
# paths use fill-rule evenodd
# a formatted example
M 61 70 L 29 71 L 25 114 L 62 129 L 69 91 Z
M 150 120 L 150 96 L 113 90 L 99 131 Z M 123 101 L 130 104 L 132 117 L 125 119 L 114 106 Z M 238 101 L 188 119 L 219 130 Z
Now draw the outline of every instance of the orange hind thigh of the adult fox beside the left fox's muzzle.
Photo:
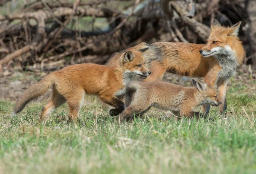
M 143 79 L 143 82 L 161 80 L 163 78 L 163 74 L 166 72 L 166 68 L 164 68 L 159 61 L 152 60 L 149 71 L 151 71 L 151 74 L 146 79 Z

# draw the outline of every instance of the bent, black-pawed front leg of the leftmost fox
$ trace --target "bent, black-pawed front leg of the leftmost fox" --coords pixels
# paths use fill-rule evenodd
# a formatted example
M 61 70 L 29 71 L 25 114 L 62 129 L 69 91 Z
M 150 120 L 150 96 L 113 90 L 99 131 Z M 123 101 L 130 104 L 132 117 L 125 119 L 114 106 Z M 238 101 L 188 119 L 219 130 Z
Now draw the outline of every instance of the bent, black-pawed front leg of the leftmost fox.
M 101 95 L 99 97 L 103 102 L 114 107 L 114 109 L 111 109 L 109 111 L 109 114 L 111 116 L 119 115 L 125 109 L 125 103 L 123 103 L 122 100 L 119 100 L 118 98 L 116 98 L 114 96 Z

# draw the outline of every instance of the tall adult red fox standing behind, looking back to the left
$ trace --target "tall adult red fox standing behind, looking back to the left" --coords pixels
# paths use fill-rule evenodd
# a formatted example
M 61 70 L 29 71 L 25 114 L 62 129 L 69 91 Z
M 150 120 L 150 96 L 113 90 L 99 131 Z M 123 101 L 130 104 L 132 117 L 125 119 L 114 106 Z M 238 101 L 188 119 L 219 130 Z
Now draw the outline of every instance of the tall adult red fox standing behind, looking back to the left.
M 165 72 L 170 72 L 190 77 L 204 77 L 205 83 L 210 86 L 217 84 L 218 98 L 222 102 L 220 111 L 221 114 L 226 114 L 227 81 L 236 74 L 236 69 L 245 56 L 238 37 L 240 24 L 241 21 L 231 27 L 224 27 L 214 19 L 206 45 L 182 42 L 156 42 L 151 45 L 140 43 L 125 51 L 149 47 L 143 53 L 143 57 L 151 76 L 143 82 L 160 80 Z M 113 54 L 106 65 L 115 66 L 122 53 L 123 51 Z M 205 114 L 208 114 L 209 106 L 204 110 Z

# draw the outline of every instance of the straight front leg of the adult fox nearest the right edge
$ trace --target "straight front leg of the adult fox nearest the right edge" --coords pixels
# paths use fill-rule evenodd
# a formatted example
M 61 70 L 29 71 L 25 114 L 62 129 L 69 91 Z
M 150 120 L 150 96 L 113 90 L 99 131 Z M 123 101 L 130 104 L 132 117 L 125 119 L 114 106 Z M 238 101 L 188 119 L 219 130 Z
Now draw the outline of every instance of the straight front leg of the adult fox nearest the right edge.
M 217 83 L 218 86 L 218 98 L 221 101 L 220 112 L 221 114 L 227 114 L 227 82 L 224 80 L 219 80 Z

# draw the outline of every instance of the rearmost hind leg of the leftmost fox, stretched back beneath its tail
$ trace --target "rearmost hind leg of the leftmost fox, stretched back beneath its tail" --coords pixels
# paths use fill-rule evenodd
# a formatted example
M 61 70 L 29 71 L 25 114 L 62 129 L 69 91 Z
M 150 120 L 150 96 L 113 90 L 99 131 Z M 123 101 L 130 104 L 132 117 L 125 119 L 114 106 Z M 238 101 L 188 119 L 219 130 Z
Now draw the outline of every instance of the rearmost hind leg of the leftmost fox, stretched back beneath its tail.
M 58 93 L 55 86 L 52 86 L 52 98 L 49 100 L 46 106 L 42 109 L 39 122 L 44 120 L 52 113 L 56 108 L 63 105 L 66 102 L 65 98 Z

